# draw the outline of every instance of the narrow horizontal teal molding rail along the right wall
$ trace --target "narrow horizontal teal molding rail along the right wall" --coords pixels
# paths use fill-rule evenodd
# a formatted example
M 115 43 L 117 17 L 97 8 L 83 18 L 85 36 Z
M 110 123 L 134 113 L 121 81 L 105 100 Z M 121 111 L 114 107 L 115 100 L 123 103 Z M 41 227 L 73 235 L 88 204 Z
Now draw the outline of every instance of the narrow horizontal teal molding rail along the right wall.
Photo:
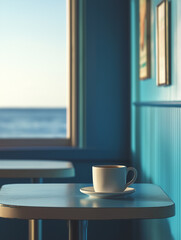
M 133 102 L 136 107 L 181 107 L 181 101 L 147 101 Z

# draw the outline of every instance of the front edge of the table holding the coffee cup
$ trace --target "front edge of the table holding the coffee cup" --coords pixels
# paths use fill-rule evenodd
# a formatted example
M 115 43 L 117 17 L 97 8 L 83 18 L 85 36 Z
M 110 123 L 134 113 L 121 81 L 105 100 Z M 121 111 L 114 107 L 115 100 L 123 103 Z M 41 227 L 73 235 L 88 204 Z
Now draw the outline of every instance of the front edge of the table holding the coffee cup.
M 42 211 L 43 210 L 43 211 Z M 116 208 L 70 208 L 23 207 L 0 204 L 0 217 L 17 219 L 59 220 L 113 220 L 113 219 L 158 219 L 175 215 L 175 203 L 161 207 Z

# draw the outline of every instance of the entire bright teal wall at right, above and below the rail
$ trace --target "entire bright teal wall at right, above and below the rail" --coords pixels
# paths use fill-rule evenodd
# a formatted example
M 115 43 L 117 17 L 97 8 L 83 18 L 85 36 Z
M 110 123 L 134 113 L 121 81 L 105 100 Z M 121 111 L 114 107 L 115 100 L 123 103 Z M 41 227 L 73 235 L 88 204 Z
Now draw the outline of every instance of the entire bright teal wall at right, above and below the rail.
M 159 2 L 151 0 L 151 78 L 140 81 L 138 0 L 131 0 L 131 149 L 139 181 L 160 185 L 175 202 L 176 216 L 136 221 L 135 239 L 139 240 L 181 239 L 181 108 L 169 106 L 181 100 L 181 1 L 170 1 L 171 85 L 166 87 L 156 86 L 156 6 Z M 168 101 L 168 105 L 163 101 Z

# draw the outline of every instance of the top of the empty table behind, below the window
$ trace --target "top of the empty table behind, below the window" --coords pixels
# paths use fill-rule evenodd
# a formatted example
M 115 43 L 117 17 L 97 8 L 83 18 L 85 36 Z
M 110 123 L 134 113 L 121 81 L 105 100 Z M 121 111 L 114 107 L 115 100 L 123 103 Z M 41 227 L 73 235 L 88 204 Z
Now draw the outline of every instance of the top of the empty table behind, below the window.
M 54 160 L 0 160 L 0 178 L 74 177 L 71 162 Z

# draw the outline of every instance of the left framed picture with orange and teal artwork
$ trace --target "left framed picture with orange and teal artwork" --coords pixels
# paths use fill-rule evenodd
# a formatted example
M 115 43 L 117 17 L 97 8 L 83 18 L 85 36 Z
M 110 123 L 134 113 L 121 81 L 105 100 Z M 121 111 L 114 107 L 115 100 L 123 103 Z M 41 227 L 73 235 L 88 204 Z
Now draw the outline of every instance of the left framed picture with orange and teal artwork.
M 150 78 L 150 0 L 139 0 L 139 78 Z

